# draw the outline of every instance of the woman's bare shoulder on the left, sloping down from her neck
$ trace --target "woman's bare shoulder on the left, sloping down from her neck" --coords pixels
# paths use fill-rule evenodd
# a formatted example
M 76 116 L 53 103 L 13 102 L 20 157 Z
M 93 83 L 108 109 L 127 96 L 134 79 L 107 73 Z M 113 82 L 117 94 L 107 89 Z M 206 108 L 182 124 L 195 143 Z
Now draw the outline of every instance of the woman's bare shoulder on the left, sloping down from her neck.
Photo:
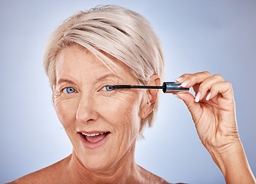
M 51 166 L 45 167 L 38 171 L 32 172 L 28 175 L 22 176 L 21 178 L 15 179 L 12 182 L 6 184 L 25 184 L 25 183 L 58 183 L 59 177 L 62 174 L 64 166 L 68 163 L 70 156 L 62 159 L 58 163 L 54 163 Z

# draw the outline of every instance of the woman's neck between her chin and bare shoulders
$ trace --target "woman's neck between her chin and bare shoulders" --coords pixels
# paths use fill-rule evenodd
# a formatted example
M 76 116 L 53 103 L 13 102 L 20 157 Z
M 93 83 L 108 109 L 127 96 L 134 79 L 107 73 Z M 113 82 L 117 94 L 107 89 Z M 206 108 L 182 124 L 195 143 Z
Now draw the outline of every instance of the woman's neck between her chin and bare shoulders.
M 141 178 L 140 167 L 135 163 L 135 143 L 117 163 L 97 171 L 87 169 L 73 151 L 66 171 L 65 177 L 73 183 L 127 183 Z

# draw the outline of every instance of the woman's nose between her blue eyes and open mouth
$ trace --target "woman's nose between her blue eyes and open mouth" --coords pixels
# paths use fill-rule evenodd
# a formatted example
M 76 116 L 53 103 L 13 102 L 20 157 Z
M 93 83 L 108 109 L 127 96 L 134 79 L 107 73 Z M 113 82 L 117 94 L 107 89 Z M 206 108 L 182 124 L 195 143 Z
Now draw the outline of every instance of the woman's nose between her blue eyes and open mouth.
M 98 113 L 95 109 L 93 97 L 89 95 L 81 96 L 79 101 L 78 110 L 76 112 L 76 119 L 80 123 L 94 122 L 98 119 Z

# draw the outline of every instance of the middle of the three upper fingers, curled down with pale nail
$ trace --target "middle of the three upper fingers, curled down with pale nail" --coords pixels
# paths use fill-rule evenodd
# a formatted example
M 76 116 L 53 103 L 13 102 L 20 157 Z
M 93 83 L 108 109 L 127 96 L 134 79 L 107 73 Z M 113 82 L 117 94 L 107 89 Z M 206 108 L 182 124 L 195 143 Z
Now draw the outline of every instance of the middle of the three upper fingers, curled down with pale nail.
M 208 94 L 208 96 L 206 97 L 206 100 L 209 100 L 209 97 L 211 97 L 211 94 L 209 95 L 208 92 L 211 89 L 212 85 L 217 84 L 219 82 L 223 82 L 223 81 L 224 79 L 220 74 L 214 74 L 213 76 L 203 81 L 198 87 L 198 93 L 196 94 L 195 101 L 198 102 L 199 100 L 202 100 L 206 94 Z

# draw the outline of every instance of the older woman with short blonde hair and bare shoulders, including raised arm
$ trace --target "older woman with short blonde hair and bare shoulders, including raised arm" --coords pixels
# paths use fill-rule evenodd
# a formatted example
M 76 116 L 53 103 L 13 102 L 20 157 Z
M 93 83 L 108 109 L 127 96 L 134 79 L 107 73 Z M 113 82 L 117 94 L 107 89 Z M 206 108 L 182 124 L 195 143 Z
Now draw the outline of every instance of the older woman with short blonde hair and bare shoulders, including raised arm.
M 70 156 L 13 183 L 168 183 L 135 163 L 135 143 L 158 110 L 165 61 L 148 21 L 133 11 L 101 6 L 66 19 L 49 38 L 44 66 Z M 196 93 L 185 101 L 198 136 L 227 183 L 254 183 L 235 116 L 231 84 L 220 75 L 183 74 Z

